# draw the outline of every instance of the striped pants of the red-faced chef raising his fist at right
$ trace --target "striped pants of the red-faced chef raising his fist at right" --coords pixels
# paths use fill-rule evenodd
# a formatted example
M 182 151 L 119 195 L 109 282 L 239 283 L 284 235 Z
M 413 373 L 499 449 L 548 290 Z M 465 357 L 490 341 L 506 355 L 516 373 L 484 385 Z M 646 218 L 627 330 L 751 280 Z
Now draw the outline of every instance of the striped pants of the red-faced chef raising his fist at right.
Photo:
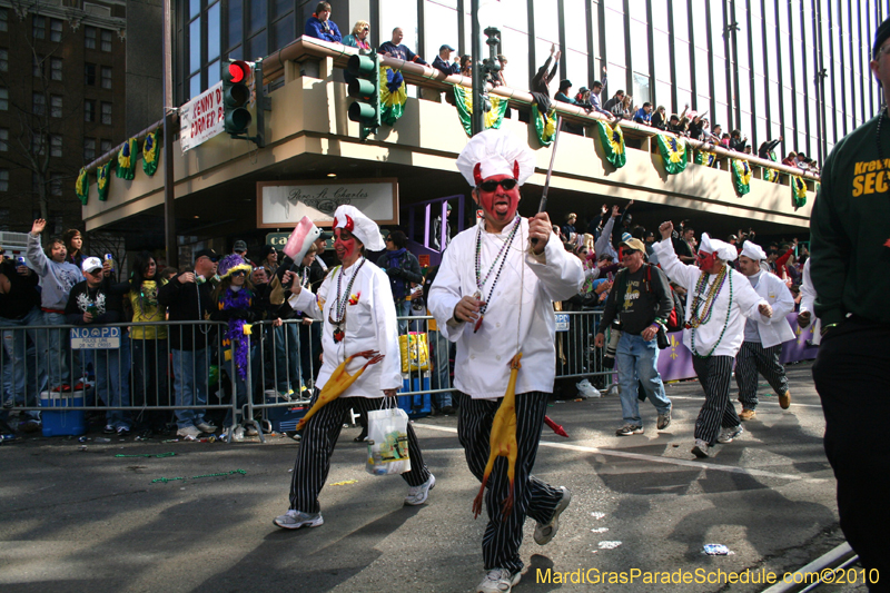
M 695 418 L 695 438 L 709 445 L 716 443 L 720 428 L 739 426 L 742 421 L 730 402 L 730 379 L 732 378 L 732 356 L 692 357 L 692 368 L 704 389 L 704 405 Z

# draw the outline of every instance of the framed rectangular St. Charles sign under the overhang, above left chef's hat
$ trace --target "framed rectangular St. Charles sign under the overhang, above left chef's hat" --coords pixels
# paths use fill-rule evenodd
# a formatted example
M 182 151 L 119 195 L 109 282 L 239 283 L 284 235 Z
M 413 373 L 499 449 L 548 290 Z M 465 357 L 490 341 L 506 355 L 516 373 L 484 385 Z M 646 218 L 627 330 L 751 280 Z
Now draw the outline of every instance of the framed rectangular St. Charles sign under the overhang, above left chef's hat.
M 257 184 L 257 227 L 294 227 L 304 216 L 329 227 L 338 206 L 355 206 L 378 225 L 398 224 L 398 180 L 260 181 Z

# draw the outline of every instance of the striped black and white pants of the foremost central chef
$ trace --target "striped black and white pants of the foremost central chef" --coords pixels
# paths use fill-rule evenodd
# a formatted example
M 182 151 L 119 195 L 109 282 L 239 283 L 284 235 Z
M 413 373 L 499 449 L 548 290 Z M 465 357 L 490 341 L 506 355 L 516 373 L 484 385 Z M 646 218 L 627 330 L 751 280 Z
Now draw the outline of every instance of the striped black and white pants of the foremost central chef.
M 501 399 L 503 398 L 473 399 L 466 394 L 459 394 L 457 438 L 464 447 L 469 471 L 479 482 L 488 463 L 492 423 Z M 516 394 L 517 452 L 513 482 L 513 511 L 506 517 L 503 516 L 502 504 L 510 494 L 508 463 L 506 457 L 497 457 L 485 492 L 488 525 L 482 537 L 482 556 L 486 571 L 493 569 L 507 569 L 512 573 L 522 571 L 520 545 L 525 517 L 547 523 L 562 500 L 561 490 L 532 475 L 546 411 L 547 394 L 541 392 Z

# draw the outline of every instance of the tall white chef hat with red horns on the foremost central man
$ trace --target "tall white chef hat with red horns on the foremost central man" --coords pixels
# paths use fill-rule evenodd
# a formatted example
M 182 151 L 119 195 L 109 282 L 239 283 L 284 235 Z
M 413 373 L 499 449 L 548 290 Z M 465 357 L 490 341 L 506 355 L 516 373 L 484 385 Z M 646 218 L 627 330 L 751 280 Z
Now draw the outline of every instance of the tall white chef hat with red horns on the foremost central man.
M 493 175 L 508 175 L 523 185 L 535 172 L 535 154 L 515 136 L 487 129 L 466 144 L 457 157 L 457 169 L 476 187 Z

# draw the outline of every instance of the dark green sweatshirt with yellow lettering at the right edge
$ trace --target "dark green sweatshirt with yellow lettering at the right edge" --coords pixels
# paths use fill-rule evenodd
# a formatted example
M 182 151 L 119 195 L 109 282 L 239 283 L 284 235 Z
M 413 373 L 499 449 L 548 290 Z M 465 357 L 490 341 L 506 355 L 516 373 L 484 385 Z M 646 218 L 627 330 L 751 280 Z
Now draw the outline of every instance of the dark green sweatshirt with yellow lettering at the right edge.
M 815 314 L 823 327 L 854 314 L 890 324 L 890 119 L 867 121 L 834 146 L 810 218 Z M 883 169 L 883 170 L 881 170 Z

